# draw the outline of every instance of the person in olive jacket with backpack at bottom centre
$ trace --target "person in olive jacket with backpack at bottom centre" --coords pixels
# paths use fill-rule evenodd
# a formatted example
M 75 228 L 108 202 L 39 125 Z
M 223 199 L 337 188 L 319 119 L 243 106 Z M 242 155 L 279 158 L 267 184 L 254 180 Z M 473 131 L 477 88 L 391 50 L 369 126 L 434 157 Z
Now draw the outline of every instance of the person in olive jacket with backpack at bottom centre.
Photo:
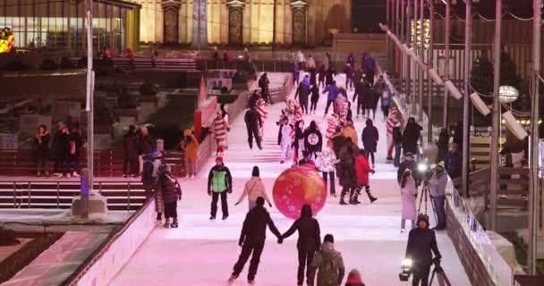
M 319 286 L 337 286 L 344 280 L 345 266 L 342 254 L 335 249 L 335 237 L 327 234 L 323 238 L 323 244 L 313 257 L 311 262 L 312 273 L 308 285 L 313 285 L 315 271 L 318 272 Z

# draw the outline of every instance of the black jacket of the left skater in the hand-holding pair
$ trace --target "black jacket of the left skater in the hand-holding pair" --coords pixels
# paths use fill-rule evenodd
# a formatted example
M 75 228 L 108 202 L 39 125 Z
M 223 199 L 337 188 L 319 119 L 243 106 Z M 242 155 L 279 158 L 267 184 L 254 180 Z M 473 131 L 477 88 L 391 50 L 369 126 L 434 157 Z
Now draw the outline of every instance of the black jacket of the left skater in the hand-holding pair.
M 267 238 L 267 226 L 277 238 L 281 237 L 281 233 L 277 231 L 276 225 L 274 225 L 266 208 L 263 206 L 251 208 L 243 221 L 239 242 L 263 244 Z

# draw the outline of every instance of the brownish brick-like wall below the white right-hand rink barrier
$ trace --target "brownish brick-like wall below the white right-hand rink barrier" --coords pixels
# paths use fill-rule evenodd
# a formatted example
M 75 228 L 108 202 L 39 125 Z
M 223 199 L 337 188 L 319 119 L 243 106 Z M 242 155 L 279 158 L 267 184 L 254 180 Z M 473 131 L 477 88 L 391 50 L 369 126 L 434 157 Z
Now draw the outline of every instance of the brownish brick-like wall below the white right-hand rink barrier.
M 461 224 L 455 219 L 449 203 L 446 204 L 447 235 L 453 240 L 457 255 L 472 285 L 494 286 L 489 273 L 481 261 L 471 241 L 466 237 Z M 446 269 L 447 272 L 447 269 Z

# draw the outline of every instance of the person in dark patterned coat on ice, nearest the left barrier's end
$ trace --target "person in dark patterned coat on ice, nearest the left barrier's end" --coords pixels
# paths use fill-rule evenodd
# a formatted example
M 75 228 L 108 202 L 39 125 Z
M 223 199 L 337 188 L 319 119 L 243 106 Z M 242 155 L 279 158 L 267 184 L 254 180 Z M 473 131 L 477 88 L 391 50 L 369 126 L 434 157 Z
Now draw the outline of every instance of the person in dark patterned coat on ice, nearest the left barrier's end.
M 170 166 L 161 164 L 160 176 L 157 181 L 157 191 L 161 192 L 165 210 L 165 227 L 176 228 L 177 224 L 177 201 L 182 200 L 182 188 L 170 173 Z M 170 223 L 172 219 L 172 223 Z

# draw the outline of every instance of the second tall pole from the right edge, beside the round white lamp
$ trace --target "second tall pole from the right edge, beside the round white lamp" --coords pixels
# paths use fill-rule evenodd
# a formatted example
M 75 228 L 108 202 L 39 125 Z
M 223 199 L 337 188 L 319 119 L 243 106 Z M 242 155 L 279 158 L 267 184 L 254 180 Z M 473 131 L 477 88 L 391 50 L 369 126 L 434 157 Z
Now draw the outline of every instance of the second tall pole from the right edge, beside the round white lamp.
M 492 133 L 491 133 L 491 151 L 489 154 L 490 174 L 489 174 L 489 189 L 491 200 L 490 206 L 490 231 L 497 230 L 497 187 L 498 187 L 498 139 L 500 131 L 499 121 L 499 105 L 498 105 L 498 89 L 500 86 L 500 42 L 501 42 L 501 26 L 502 26 L 502 0 L 497 0 L 495 11 L 495 42 L 493 44 L 493 111 L 492 111 Z

